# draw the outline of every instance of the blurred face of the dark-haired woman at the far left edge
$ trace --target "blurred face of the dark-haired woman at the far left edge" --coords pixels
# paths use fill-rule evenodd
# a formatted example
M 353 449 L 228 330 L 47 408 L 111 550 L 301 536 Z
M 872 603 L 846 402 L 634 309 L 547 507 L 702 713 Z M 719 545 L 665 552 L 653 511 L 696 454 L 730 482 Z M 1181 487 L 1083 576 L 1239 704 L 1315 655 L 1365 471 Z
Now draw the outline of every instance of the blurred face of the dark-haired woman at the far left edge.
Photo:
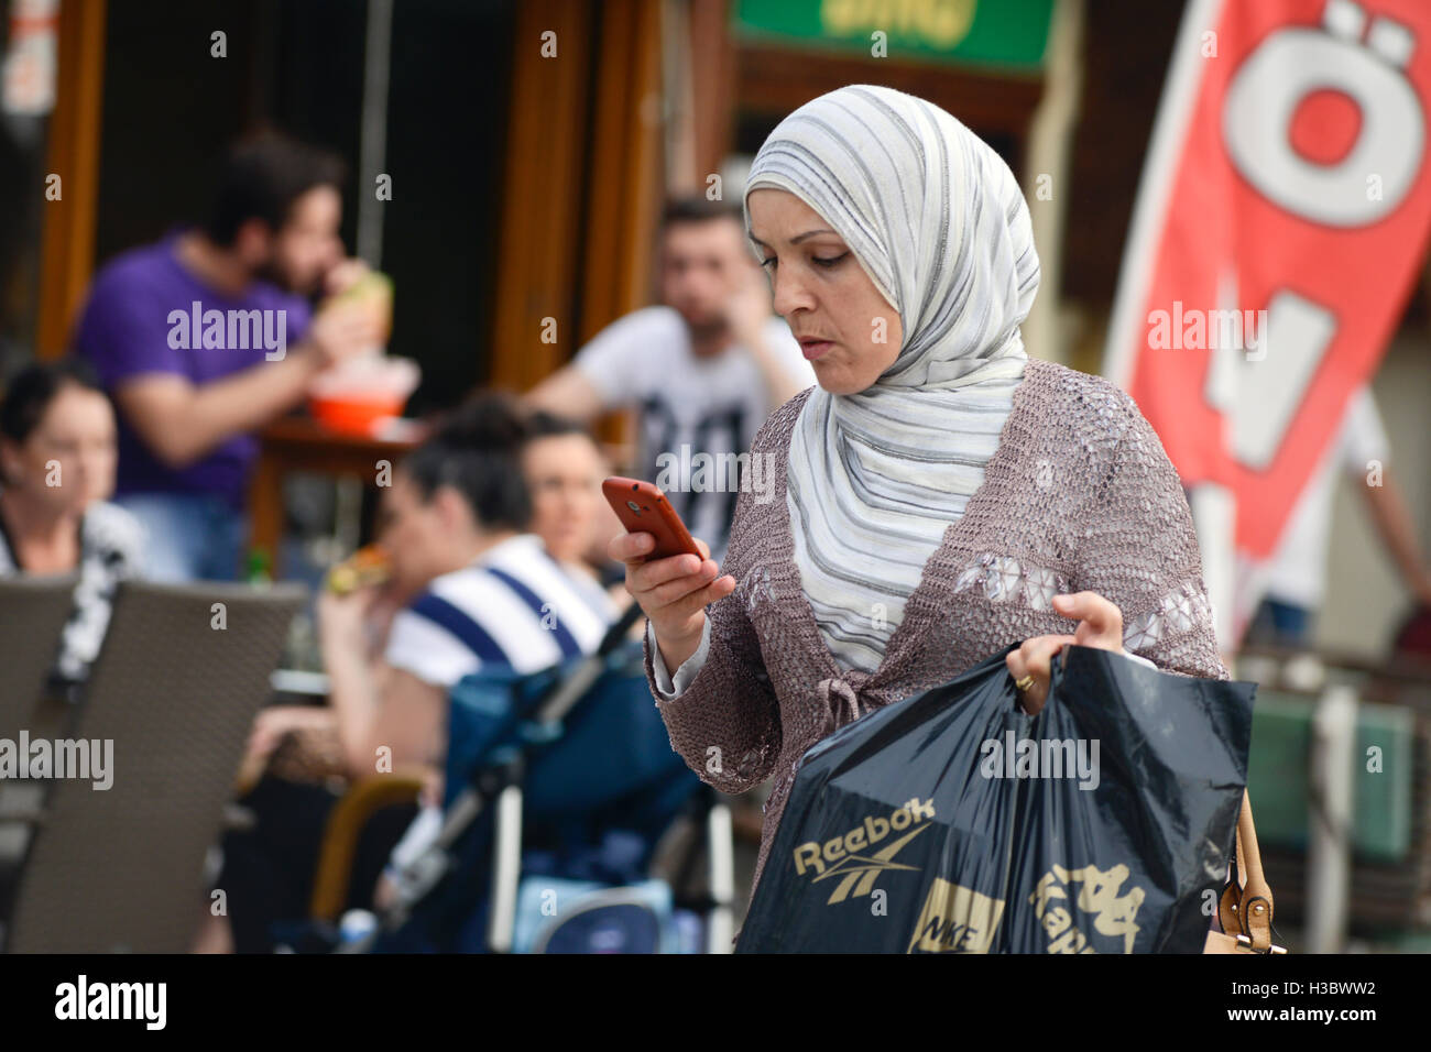
M 23 444 L 4 442 L 4 477 L 53 514 L 83 512 L 114 492 L 114 442 L 109 399 L 64 384 Z

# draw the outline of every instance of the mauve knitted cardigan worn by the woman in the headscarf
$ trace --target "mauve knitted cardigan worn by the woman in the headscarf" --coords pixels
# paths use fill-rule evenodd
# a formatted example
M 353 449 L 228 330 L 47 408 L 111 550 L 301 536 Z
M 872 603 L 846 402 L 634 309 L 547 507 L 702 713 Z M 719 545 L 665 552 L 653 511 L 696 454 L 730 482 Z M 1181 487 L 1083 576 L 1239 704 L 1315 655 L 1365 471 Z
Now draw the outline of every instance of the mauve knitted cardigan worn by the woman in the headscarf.
M 1029 359 L 985 482 L 924 564 L 883 663 L 874 673 L 841 668 L 800 588 L 786 507 L 790 435 L 809 396 L 780 406 L 751 444 L 751 459 L 767 458 L 773 498 L 737 498 L 721 567 L 736 591 L 707 608 L 705 661 L 671 700 L 657 690 L 650 633 L 645 643 L 651 693 L 691 770 L 727 793 L 776 776 L 753 893 L 810 746 L 1012 643 L 1072 633 L 1076 623 L 1052 610 L 1055 593 L 1115 603 L 1123 648 L 1163 671 L 1231 678 L 1192 515 L 1156 432 L 1113 384 L 1039 359 Z

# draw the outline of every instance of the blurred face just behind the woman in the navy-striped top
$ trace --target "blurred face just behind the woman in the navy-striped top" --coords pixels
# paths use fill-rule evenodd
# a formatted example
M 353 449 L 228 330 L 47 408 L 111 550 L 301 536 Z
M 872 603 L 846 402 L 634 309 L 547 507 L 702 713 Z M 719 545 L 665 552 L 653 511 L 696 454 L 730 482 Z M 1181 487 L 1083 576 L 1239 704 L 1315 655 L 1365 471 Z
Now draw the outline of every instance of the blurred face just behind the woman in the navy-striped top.
M 605 507 L 595 444 L 585 435 L 537 438 L 522 451 L 522 472 L 532 497 L 531 531 L 552 558 L 580 560 Z

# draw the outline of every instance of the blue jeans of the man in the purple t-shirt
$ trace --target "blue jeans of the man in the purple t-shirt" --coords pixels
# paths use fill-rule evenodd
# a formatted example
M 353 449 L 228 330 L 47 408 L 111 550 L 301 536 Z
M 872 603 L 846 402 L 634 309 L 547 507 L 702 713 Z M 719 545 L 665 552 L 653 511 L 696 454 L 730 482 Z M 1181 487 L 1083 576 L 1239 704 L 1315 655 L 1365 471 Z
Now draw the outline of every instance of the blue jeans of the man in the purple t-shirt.
M 209 494 L 124 494 L 114 504 L 149 532 L 145 577 L 150 581 L 238 578 L 248 525 L 226 501 Z

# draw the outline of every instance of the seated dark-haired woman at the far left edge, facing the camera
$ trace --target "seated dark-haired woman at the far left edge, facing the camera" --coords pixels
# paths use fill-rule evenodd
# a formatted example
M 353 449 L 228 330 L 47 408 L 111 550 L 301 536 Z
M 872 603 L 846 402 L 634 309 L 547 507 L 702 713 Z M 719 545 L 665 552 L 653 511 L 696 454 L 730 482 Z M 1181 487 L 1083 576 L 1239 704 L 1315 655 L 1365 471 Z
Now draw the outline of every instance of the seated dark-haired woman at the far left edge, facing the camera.
M 82 681 L 109 627 L 114 588 L 136 577 L 145 534 L 114 490 L 114 409 L 89 366 L 21 369 L 0 401 L 0 577 L 77 573 L 52 680 Z

